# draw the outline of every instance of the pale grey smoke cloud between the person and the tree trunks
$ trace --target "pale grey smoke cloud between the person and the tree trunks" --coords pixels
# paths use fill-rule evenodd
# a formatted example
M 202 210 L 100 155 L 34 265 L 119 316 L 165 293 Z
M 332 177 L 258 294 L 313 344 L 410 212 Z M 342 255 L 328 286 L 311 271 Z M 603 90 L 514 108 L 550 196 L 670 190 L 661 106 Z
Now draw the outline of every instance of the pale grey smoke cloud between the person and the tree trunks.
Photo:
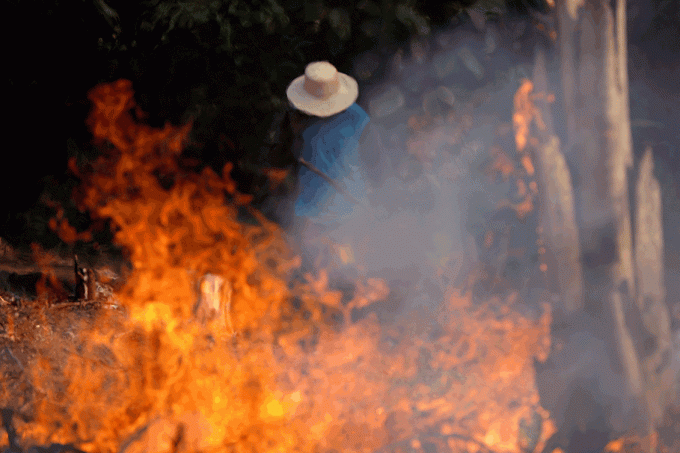
M 517 235 L 516 217 L 498 216 L 514 182 L 489 173 L 499 150 L 510 153 L 514 144 L 512 100 L 529 63 L 491 23 L 484 33 L 462 27 L 416 37 L 393 55 L 368 52 L 356 59 L 358 103 L 371 117 L 360 153 L 372 190 L 370 208 L 327 234 L 335 244 L 334 279 L 383 278 L 403 289 L 402 308 L 431 308 L 446 291 L 462 287 L 480 255 L 488 254 L 480 248 L 488 230 L 503 249 L 495 263 L 499 275 L 506 271 L 508 240 L 519 241 L 518 250 L 534 247 Z M 513 228 L 517 237 L 509 239 Z M 298 240 L 304 236 L 299 225 L 290 230 Z M 302 250 L 304 261 L 315 267 L 318 247 L 311 249 Z M 533 272 L 530 255 L 519 258 L 518 281 Z

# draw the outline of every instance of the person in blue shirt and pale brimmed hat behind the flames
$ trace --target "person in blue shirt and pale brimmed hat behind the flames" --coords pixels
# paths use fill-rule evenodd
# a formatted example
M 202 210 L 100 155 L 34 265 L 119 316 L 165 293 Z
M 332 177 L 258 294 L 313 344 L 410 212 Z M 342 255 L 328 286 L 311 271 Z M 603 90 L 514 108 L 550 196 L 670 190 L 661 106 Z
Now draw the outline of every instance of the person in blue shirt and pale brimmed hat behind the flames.
M 360 150 L 370 118 L 358 94 L 356 80 L 327 61 L 308 64 L 286 89 L 298 162 L 294 227 L 303 260 L 314 267 L 351 264 L 347 226 L 370 215 L 367 170 L 378 165 Z

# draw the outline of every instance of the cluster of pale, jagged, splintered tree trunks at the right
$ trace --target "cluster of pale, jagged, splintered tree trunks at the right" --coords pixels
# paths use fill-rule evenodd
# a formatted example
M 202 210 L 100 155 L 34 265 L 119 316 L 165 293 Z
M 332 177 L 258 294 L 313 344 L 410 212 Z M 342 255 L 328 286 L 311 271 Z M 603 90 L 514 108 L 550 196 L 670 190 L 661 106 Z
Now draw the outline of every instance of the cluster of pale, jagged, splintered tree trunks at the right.
M 649 435 L 673 391 L 670 321 L 651 152 L 638 171 L 632 230 L 625 0 L 565 0 L 558 2 L 557 15 L 566 146 L 563 156 L 546 129 L 534 154 L 541 224 L 555 256 L 561 330 L 554 333 L 559 345 L 552 370 L 538 377 L 539 386 L 542 380 L 544 402 L 567 437 L 602 429 Z M 542 65 L 537 57 L 538 91 L 548 89 Z M 542 113 L 550 116 L 545 106 Z M 575 171 L 573 195 L 565 157 Z M 585 354 L 606 357 L 574 358 Z M 563 443 L 570 451 L 581 448 Z

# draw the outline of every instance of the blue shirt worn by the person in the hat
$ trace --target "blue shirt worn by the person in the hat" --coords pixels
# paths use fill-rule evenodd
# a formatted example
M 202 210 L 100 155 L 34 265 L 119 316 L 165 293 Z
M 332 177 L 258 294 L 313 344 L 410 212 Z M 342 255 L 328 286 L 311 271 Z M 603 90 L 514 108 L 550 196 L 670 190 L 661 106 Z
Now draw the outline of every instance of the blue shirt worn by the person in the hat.
M 313 118 L 302 132 L 300 157 L 333 179 L 356 200 L 365 202 L 367 184 L 361 170 L 359 139 L 368 114 L 356 103 L 328 118 Z M 359 205 L 307 167 L 298 173 L 295 215 L 332 226 L 352 216 Z

